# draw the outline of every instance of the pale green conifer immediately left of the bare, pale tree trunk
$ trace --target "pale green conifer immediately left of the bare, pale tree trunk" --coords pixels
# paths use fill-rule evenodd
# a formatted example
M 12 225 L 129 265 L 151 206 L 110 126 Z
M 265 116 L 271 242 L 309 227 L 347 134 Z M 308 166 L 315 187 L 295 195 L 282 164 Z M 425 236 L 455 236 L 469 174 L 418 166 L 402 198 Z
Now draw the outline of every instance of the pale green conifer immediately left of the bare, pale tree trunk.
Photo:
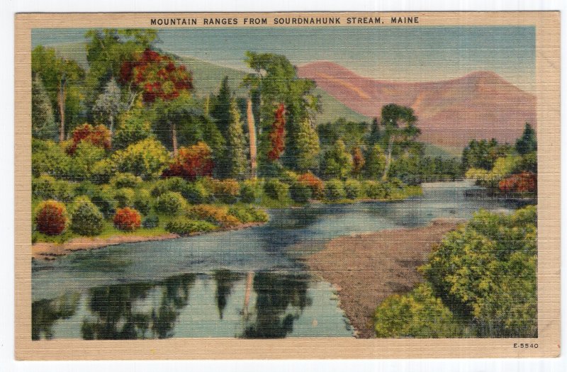
M 240 111 L 235 98 L 230 101 L 230 121 L 227 128 L 226 152 L 223 159 L 226 163 L 226 175 L 230 178 L 243 179 L 246 174 L 246 139 L 240 120 Z

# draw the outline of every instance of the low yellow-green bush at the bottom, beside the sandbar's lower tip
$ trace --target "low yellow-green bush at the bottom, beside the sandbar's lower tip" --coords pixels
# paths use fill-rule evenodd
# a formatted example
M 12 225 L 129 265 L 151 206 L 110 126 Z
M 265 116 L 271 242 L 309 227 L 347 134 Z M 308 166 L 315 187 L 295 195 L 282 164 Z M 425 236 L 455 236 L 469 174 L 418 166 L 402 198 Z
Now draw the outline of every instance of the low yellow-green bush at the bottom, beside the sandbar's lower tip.
M 451 310 L 434 296 L 428 284 L 420 284 L 407 295 L 392 295 L 374 314 L 376 337 L 454 338 L 462 327 Z

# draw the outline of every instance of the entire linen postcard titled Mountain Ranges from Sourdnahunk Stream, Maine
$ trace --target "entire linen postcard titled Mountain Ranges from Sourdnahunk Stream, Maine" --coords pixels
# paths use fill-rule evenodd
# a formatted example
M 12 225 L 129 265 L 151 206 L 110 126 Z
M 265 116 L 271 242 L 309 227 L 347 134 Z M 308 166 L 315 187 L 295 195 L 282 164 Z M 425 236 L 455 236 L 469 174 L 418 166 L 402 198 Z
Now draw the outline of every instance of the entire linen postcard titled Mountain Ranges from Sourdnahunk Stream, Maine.
M 17 14 L 16 358 L 558 356 L 559 31 Z

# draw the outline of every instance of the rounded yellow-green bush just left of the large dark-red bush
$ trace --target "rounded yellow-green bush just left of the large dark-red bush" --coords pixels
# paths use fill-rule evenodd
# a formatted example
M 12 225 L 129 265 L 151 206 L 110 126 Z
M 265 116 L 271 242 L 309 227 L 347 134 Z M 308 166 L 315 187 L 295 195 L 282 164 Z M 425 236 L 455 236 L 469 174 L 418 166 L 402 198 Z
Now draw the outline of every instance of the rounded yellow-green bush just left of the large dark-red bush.
M 142 179 L 157 179 L 167 167 L 169 154 L 157 140 L 147 138 L 113 154 L 116 169 Z

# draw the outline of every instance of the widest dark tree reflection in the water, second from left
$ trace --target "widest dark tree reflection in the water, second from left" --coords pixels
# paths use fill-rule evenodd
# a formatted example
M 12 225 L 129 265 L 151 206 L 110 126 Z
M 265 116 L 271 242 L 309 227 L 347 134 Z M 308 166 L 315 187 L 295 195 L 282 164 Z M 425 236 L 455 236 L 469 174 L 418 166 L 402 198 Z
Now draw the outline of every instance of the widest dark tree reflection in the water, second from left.
M 172 337 L 179 310 L 189 302 L 189 288 L 194 274 L 172 276 L 160 283 L 129 283 L 93 288 L 89 307 L 97 318 L 84 320 L 81 331 L 84 339 L 140 339 Z M 157 308 L 150 312 L 136 311 L 135 301 L 147 297 L 155 287 L 162 289 Z

